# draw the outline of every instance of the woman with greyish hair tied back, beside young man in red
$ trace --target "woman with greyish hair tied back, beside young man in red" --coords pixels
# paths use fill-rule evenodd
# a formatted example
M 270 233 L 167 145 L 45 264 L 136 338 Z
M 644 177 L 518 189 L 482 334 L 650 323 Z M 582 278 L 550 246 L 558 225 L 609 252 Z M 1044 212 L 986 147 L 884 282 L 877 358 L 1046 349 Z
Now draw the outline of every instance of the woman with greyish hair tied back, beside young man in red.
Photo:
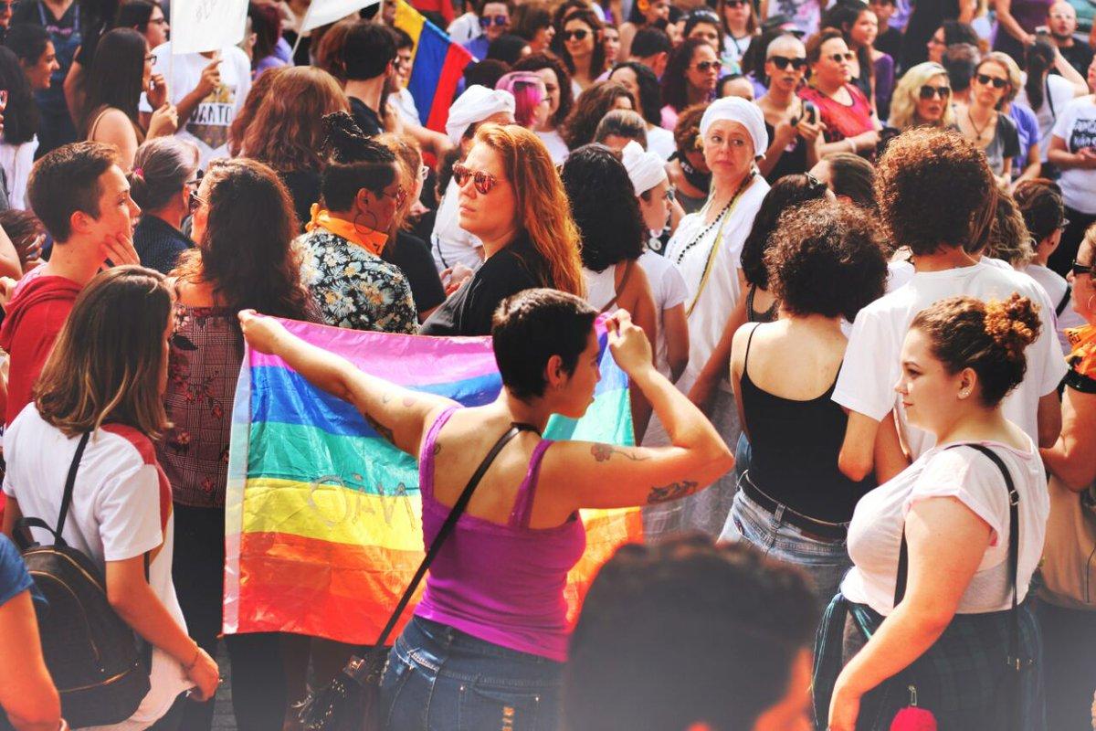
M 137 148 L 129 173 L 129 195 L 140 206 L 134 229 L 134 249 L 141 266 L 168 274 L 179 255 L 194 245 L 183 233 L 191 214 L 191 193 L 197 191 L 197 146 L 179 137 L 157 137 Z

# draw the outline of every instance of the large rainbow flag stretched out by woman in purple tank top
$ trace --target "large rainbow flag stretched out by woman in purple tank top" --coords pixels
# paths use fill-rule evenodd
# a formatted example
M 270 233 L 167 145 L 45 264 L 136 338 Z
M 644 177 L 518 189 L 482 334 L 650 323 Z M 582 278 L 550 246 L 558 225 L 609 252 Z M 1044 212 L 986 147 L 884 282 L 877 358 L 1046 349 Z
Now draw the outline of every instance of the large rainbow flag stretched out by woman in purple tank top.
M 490 338 L 284 322 L 369 374 L 468 407 L 492 401 L 501 388 Z M 631 444 L 627 377 L 601 325 L 598 335 L 602 380 L 594 402 L 579 421 L 553 416 L 546 437 Z M 248 351 L 232 413 L 225 632 L 375 642 L 423 558 L 421 515 L 413 457 L 281 358 Z M 638 509 L 583 511 L 582 518 L 586 552 L 567 586 L 572 621 L 597 568 L 618 545 L 642 536 Z

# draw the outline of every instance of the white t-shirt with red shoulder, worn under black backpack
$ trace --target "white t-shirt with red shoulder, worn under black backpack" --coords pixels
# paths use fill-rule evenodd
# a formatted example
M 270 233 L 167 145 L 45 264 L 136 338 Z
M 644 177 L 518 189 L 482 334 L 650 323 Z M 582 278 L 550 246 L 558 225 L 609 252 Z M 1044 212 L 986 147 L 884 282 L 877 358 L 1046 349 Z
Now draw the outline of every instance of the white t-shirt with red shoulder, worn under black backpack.
M 68 437 L 47 424 L 32 402 L 3 435 L 8 473 L 3 491 L 19 501 L 20 512 L 53 525 L 60 511 L 69 465 L 79 437 Z M 36 540 L 52 544 L 45 530 Z M 156 461 L 148 437 L 127 426 L 107 425 L 95 432 L 80 460 L 72 503 L 61 536 L 82 551 L 105 575 L 107 561 L 124 561 L 153 551 L 148 583 L 185 631 L 186 623 L 171 581 L 174 516 L 171 486 Z M 157 550 L 158 549 L 158 550 Z M 168 712 L 179 694 L 193 686 L 182 665 L 152 649 L 151 688 L 137 711 L 111 731 L 138 731 Z

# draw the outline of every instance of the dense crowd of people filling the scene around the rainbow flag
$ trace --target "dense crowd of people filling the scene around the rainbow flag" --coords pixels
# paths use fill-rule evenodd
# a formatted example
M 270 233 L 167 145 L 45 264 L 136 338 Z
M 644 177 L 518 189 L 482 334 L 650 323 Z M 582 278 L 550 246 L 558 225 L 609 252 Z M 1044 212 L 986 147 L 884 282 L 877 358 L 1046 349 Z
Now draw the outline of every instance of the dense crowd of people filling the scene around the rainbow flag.
M 418 461 L 443 542 L 376 728 L 1093 728 L 1091 8 L 434 7 L 472 56 L 437 125 L 399 2 L 183 54 L 167 1 L 0 2 L 0 728 L 208 731 L 221 656 L 237 728 L 295 731 L 345 681 L 362 648 L 222 635 L 246 349 Z M 490 335 L 502 390 L 274 318 Z M 629 444 L 543 438 L 600 318 Z M 570 623 L 617 507 L 643 542 Z M 80 686 L 110 627 L 136 659 Z

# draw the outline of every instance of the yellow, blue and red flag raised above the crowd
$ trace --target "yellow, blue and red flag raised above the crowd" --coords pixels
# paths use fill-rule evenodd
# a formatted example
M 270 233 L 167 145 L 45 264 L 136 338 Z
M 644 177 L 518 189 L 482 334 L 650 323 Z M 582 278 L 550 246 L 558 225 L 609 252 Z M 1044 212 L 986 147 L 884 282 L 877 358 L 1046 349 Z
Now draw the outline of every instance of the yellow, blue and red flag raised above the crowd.
M 475 59 L 404 0 L 399 0 L 396 7 L 396 27 L 414 41 L 408 90 L 419 108 L 419 119 L 427 129 L 445 134 L 457 82 Z

